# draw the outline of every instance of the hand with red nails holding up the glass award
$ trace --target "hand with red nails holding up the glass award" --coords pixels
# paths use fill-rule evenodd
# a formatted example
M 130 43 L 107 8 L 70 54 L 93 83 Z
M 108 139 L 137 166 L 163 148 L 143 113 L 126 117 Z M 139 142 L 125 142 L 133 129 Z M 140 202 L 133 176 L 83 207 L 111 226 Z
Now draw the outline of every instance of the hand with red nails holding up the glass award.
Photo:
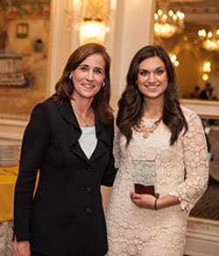
M 154 197 L 152 194 L 134 194 L 131 192 L 131 200 L 139 208 L 154 209 L 154 202 L 156 197 Z

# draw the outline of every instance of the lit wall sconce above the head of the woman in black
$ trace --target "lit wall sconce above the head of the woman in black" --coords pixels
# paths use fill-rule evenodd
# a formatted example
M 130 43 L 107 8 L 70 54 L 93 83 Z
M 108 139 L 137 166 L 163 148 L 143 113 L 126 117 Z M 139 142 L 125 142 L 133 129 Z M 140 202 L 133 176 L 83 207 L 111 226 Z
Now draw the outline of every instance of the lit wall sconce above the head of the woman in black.
M 88 42 L 104 44 L 109 33 L 108 21 L 116 10 L 117 0 L 67 0 L 67 31 L 79 31 L 79 45 Z

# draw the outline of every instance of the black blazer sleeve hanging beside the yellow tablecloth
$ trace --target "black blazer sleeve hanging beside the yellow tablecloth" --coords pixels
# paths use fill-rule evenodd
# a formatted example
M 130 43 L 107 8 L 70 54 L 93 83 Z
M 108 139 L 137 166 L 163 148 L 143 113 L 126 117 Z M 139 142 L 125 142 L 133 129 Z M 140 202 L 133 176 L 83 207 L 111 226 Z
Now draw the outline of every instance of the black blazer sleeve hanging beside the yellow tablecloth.
M 22 143 L 18 180 L 15 188 L 14 230 L 17 241 L 28 241 L 32 197 L 37 172 L 50 137 L 49 116 L 43 105 L 36 106 Z

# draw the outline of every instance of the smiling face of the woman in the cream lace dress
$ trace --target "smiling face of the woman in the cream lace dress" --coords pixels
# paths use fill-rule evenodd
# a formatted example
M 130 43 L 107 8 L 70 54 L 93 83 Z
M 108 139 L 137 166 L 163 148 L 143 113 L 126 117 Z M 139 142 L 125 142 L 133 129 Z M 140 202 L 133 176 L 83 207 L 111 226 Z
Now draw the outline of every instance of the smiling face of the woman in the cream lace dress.
M 150 57 L 138 66 L 138 89 L 146 99 L 164 97 L 167 87 L 165 63 L 158 57 Z

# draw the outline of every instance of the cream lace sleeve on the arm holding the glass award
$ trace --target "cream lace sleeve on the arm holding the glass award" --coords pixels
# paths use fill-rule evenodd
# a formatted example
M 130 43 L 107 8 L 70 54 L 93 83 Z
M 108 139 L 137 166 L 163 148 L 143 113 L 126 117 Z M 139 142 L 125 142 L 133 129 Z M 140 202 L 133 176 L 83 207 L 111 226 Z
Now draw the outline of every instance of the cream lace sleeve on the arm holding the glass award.
M 187 125 L 187 133 L 182 139 L 186 179 L 170 194 L 177 196 L 182 210 L 189 212 L 208 185 L 208 150 L 201 120 L 196 113 L 190 113 Z

